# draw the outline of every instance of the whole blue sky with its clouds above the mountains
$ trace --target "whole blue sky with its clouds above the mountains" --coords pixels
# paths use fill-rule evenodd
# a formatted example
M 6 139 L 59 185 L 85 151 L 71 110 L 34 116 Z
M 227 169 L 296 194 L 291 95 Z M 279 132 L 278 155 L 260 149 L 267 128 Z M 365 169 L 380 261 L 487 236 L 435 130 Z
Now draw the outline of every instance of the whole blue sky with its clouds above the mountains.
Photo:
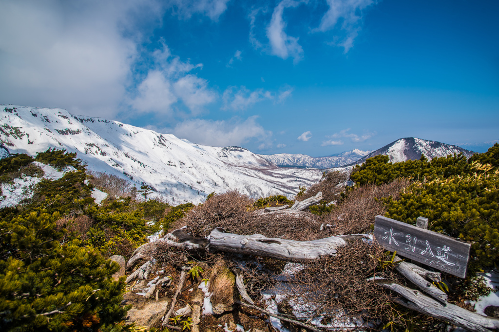
M 498 1 L 0 1 L 0 103 L 256 153 L 499 139 Z M 482 145 L 481 145 L 482 144 Z

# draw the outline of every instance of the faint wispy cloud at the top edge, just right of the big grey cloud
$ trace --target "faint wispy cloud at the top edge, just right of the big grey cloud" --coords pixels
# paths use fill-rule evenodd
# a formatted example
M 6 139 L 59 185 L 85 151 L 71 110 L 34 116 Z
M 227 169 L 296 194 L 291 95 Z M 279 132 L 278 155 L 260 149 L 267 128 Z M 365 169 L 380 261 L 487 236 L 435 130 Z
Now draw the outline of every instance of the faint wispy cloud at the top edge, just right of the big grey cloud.
M 168 5 L 176 9 L 176 12 L 184 17 L 191 18 L 193 14 L 203 14 L 217 21 L 220 15 L 227 9 L 230 0 L 170 0 Z

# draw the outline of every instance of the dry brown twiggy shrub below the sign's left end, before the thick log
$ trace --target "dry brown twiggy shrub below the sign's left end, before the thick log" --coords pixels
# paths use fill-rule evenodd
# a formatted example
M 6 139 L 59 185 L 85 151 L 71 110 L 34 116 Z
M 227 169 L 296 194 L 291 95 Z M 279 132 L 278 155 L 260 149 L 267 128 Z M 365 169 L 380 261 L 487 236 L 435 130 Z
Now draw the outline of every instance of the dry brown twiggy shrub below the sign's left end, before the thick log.
M 298 316 L 323 316 L 323 324 L 331 320 L 348 322 L 351 318 L 364 322 L 386 316 L 390 309 L 389 296 L 371 277 L 397 280 L 392 269 L 379 270 L 384 251 L 363 241 L 338 248 L 334 257 L 322 257 L 307 262 L 295 273 L 291 282 L 276 283 L 275 289 L 284 295 Z M 344 313 L 343 318 L 339 317 Z

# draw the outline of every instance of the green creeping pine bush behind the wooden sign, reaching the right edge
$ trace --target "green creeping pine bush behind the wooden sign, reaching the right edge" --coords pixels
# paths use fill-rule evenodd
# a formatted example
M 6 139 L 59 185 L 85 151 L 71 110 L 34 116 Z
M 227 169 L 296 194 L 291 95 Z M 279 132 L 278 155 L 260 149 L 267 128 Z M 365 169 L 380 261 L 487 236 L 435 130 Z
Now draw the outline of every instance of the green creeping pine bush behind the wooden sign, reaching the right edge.
M 471 241 L 471 276 L 499 266 L 499 144 L 469 160 L 449 155 L 392 164 L 387 156 L 376 156 L 350 177 L 356 185 L 416 180 L 400 198 L 385 200 L 385 216 L 412 224 L 426 217 L 431 230 Z

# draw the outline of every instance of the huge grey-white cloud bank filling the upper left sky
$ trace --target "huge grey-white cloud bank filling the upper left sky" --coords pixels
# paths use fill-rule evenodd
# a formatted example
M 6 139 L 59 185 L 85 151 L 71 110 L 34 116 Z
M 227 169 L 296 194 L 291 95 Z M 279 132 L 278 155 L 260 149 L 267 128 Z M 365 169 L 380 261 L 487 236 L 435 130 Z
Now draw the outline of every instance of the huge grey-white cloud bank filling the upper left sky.
M 226 10 L 227 2 L 2 0 L 0 100 L 115 117 L 123 101 L 128 100 L 132 68 L 141 60 L 141 45 L 161 26 L 166 10 L 172 8 L 185 17 L 199 13 L 216 20 Z M 170 59 L 168 68 L 177 74 L 187 73 L 194 66 L 172 57 L 168 48 L 156 52 L 157 62 L 161 56 Z M 172 66 L 175 62 L 178 66 Z M 156 90 L 171 92 L 167 84 L 172 84 L 170 76 L 159 79 L 155 73 L 159 69 L 154 68 L 151 75 L 147 73 L 138 82 L 139 91 L 147 95 L 145 89 L 159 84 Z M 155 95 L 154 89 L 149 94 Z M 190 100 L 189 105 L 196 104 Z M 167 93 L 163 101 L 156 98 L 150 104 L 163 108 L 171 101 Z

